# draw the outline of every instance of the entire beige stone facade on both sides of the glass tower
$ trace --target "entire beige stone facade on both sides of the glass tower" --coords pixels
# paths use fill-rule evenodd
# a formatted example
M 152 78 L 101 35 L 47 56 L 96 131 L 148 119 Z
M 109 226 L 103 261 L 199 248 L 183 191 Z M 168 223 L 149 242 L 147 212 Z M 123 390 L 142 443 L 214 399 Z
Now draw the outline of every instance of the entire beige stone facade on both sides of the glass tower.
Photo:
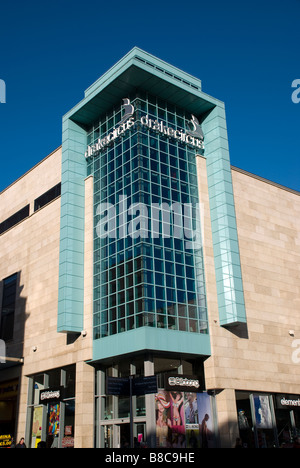
M 232 169 L 247 324 L 219 325 L 206 161 L 197 158 L 212 355 L 205 362 L 207 389 L 216 392 L 222 446 L 238 436 L 235 390 L 300 395 L 300 198 L 268 181 Z M 57 333 L 60 198 L 34 212 L 35 198 L 60 182 L 57 149 L 1 194 L 1 219 L 26 204 L 30 216 L 0 237 L 0 279 L 18 272 L 14 341 L 8 356 L 21 367 L 18 437 L 26 431 L 28 376 L 76 364 L 76 447 L 94 444 L 92 359 L 93 179 L 85 181 L 84 333 Z M 293 332 L 292 332 L 293 331 Z M 0 383 L 20 367 L 0 373 Z

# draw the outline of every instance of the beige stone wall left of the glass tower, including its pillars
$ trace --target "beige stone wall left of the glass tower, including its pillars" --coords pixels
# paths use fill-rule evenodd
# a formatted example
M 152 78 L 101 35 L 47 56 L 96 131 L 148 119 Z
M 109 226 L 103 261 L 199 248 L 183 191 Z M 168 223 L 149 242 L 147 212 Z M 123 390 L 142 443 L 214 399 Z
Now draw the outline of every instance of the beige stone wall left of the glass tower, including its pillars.
M 82 363 L 92 357 L 92 278 L 86 275 L 85 319 L 86 336 L 79 336 L 67 344 L 67 336 L 57 333 L 60 198 L 52 201 L 36 213 L 33 201 L 61 180 L 61 149 L 29 171 L 15 184 L 0 194 L 1 220 L 18 211 L 27 203 L 31 204 L 30 217 L 0 236 L 0 279 L 19 273 L 20 288 L 16 304 L 14 342 L 7 343 L 7 354 L 23 356 L 18 437 L 24 436 L 28 394 L 27 376 L 78 363 L 78 408 L 86 404 L 86 395 L 93 391 L 91 376 Z M 86 200 L 91 204 L 92 183 L 87 181 Z M 87 210 L 86 223 L 86 264 L 92 264 L 92 204 Z M 34 351 L 35 349 L 35 351 Z M 0 376 L 1 378 L 1 376 Z M 82 386 L 85 386 L 84 390 Z M 91 390 L 92 388 L 92 390 Z M 93 399 L 89 410 L 85 406 L 85 420 L 92 422 Z M 80 429 L 81 413 L 75 422 L 78 445 L 84 440 L 93 443 L 93 432 Z M 77 416 L 76 416 L 77 417 Z

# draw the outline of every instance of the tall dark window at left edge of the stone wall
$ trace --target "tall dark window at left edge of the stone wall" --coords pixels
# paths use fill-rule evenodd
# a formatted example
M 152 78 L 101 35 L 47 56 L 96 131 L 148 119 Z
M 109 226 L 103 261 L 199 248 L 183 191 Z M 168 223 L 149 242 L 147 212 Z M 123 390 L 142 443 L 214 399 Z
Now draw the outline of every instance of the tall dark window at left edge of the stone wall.
M 15 305 L 17 292 L 17 274 L 3 281 L 0 338 L 4 341 L 13 339 Z

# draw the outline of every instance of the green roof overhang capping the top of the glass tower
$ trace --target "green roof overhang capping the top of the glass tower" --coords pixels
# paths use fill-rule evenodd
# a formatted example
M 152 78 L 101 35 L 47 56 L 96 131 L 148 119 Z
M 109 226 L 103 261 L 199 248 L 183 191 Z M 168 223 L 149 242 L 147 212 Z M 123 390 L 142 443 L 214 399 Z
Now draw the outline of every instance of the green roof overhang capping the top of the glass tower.
M 200 117 L 224 104 L 201 90 L 201 81 L 162 60 L 132 49 L 85 91 L 85 98 L 65 116 L 83 127 L 142 89 Z

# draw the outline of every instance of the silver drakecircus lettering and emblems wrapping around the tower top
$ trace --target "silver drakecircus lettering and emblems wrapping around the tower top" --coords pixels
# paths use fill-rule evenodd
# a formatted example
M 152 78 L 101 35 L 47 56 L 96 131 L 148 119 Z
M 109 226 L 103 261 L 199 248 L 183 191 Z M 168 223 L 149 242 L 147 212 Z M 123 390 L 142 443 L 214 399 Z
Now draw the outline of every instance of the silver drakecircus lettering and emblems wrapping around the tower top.
M 181 143 L 185 143 L 199 150 L 204 149 L 204 135 L 201 129 L 201 125 L 194 115 L 192 115 L 192 119 L 189 122 L 191 125 L 190 130 L 184 131 L 182 129 L 175 130 L 172 127 L 167 127 L 162 120 L 154 120 L 148 115 L 144 115 L 141 120 L 136 121 L 133 117 L 135 110 L 134 106 L 127 98 L 123 99 L 122 108 L 125 112 L 121 118 L 121 121 L 118 123 L 118 126 L 109 132 L 104 138 L 99 138 L 95 144 L 89 145 L 85 152 L 86 158 L 91 158 L 98 155 L 103 149 L 105 149 L 119 137 L 123 136 L 124 133 L 127 132 L 127 130 L 130 130 L 137 122 L 140 122 L 143 127 L 146 127 L 149 130 L 157 132 L 161 135 L 174 138 Z

